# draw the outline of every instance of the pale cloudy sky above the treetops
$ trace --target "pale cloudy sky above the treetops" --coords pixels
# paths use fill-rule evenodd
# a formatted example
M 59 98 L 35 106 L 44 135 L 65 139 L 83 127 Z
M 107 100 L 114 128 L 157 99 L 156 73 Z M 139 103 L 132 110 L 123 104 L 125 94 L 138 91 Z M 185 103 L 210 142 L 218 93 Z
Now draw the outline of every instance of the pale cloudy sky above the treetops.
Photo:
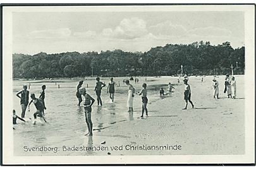
M 244 44 L 243 12 L 14 12 L 13 53 L 145 52 L 167 43 Z

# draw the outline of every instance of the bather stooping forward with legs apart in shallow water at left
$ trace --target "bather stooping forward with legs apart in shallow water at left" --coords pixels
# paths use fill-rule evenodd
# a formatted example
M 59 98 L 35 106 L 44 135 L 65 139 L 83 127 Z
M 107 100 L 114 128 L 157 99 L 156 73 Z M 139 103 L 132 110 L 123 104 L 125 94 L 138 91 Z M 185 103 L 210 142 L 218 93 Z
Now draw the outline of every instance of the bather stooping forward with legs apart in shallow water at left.
M 35 94 L 32 93 L 30 94 L 30 98 L 32 99 L 30 101 L 30 103 L 28 104 L 28 111 L 30 111 L 30 104 L 33 102 L 35 105 L 35 108 L 37 109 L 37 111 L 34 113 L 34 119 L 37 118 L 37 116 L 42 117 L 44 119 L 44 121 L 46 122 L 45 118 L 44 118 L 44 101 L 42 101 L 42 99 L 39 98 L 35 98 Z M 35 122 L 34 122 L 35 123 Z

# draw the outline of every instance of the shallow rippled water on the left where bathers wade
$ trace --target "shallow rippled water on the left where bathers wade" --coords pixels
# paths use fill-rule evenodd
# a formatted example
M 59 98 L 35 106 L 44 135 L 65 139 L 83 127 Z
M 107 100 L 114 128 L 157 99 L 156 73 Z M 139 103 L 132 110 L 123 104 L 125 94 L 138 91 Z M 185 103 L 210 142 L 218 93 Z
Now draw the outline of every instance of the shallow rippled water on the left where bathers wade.
M 134 121 L 141 115 L 141 97 L 135 95 L 133 101 L 133 114 L 128 113 L 126 108 L 126 100 L 128 98 L 128 88 L 123 84 L 123 79 L 128 77 L 116 77 L 114 81 L 120 86 L 116 86 L 116 93 L 114 96 L 114 103 L 111 102 L 107 94 L 107 86 L 102 89 L 102 103 L 103 107 L 97 107 L 97 97 L 94 93 L 95 80 L 88 78 L 83 79 L 83 86 L 87 88 L 87 93 L 94 99 L 95 103 L 92 106 L 92 122 L 94 128 L 94 135 L 97 132 L 101 132 L 104 129 L 111 127 L 115 123 L 121 123 L 125 121 Z M 159 98 L 159 88 L 168 84 L 162 84 L 163 79 L 169 81 L 170 78 L 155 78 L 147 77 L 148 84 L 148 98 L 149 105 L 154 103 Z M 177 77 L 173 77 L 173 82 Z M 154 80 L 154 81 L 150 81 Z M 83 107 L 77 106 L 76 85 L 79 80 L 40 80 L 40 81 L 13 81 L 13 109 L 16 110 L 17 115 L 21 114 L 20 99 L 15 94 L 22 89 L 23 84 L 30 84 L 31 93 L 35 93 L 35 96 L 39 98 L 41 86 L 46 85 L 46 120 L 48 123 L 44 125 L 32 125 L 31 122 L 23 122 L 20 125 L 14 125 L 14 139 L 16 145 L 15 154 L 23 155 L 22 147 L 24 145 L 30 147 L 40 147 L 46 145 L 47 147 L 60 145 L 65 141 L 71 140 L 77 136 L 81 136 L 87 133 L 87 126 L 85 124 L 85 117 L 83 113 Z M 109 82 L 109 79 L 104 78 L 102 82 Z M 118 82 L 119 81 L 119 82 Z M 136 91 L 142 89 L 142 84 L 145 82 L 145 77 L 140 77 L 140 82 L 135 84 L 131 81 L 131 84 L 135 87 Z M 167 82 L 166 82 L 167 83 Z M 58 88 L 58 85 L 60 88 Z M 32 103 L 30 105 L 30 111 L 26 111 L 25 118 L 33 118 L 35 112 L 35 106 Z M 90 143 L 90 142 L 89 142 Z M 30 153 L 31 154 L 31 153 Z

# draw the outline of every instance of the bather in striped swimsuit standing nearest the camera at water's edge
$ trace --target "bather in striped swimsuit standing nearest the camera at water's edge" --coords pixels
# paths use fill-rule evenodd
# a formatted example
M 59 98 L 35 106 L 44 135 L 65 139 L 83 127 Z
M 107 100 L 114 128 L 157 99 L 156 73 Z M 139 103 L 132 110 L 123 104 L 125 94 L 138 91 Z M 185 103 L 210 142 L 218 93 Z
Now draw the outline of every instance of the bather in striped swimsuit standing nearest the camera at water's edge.
M 88 133 L 85 135 L 92 135 L 92 105 L 94 105 L 95 99 L 86 93 L 85 88 L 79 89 L 83 99 L 83 109 L 85 111 L 85 122 L 87 124 Z

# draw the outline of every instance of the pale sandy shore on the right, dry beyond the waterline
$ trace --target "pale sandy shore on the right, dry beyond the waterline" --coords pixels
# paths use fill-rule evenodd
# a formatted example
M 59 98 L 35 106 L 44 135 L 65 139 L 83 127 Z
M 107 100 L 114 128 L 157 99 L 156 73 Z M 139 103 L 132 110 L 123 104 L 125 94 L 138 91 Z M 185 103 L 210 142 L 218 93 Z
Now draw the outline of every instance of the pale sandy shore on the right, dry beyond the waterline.
M 188 110 L 181 110 L 185 106 L 185 101 L 183 84 L 180 83 L 175 86 L 176 89 L 170 97 L 159 98 L 154 103 L 149 102 L 149 117 L 140 119 L 138 110 L 130 115 L 133 121 L 116 122 L 101 132 L 95 132 L 93 137 L 82 137 L 82 144 L 70 142 L 70 146 L 93 145 L 109 148 L 80 152 L 82 155 L 244 154 L 243 76 L 236 77 L 237 99 L 228 99 L 226 94 L 223 94 L 224 77 L 217 79 L 221 99 L 214 99 L 212 96 L 212 76 L 205 77 L 204 82 L 200 81 L 200 77 L 191 77 L 189 84 L 195 108 L 192 109 L 189 104 Z M 103 141 L 106 144 L 101 144 Z M 146 145 L 181 145 L 181 149 L 134 150 L 131 147 L 147 147 Z M 123 147 L 111 150 L 113 146 Z M 79 154 L 70 152 L 69 155 Z

